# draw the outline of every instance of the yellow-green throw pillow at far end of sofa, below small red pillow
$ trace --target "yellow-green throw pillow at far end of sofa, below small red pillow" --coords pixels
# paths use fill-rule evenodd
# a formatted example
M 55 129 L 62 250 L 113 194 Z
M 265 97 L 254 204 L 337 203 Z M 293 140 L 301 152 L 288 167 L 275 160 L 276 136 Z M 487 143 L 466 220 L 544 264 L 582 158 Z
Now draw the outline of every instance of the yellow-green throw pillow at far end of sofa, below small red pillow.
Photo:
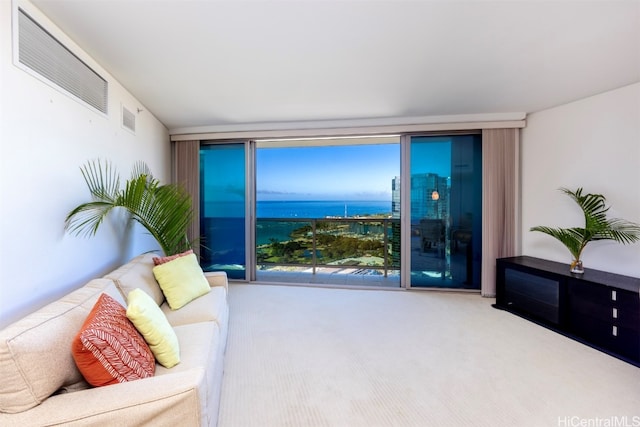
M 153 267 L 153 274 L 172 310 L 184 307 L 211 290 L 195 254 Z

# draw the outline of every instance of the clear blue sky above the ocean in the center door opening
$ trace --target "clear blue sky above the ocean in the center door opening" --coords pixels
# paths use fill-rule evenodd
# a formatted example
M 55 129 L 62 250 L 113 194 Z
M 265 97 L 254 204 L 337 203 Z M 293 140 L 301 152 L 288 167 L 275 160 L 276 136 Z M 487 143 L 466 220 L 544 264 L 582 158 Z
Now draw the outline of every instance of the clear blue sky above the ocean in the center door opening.
M 259 148 L 257 198 L 391 200 L 400 144 Z

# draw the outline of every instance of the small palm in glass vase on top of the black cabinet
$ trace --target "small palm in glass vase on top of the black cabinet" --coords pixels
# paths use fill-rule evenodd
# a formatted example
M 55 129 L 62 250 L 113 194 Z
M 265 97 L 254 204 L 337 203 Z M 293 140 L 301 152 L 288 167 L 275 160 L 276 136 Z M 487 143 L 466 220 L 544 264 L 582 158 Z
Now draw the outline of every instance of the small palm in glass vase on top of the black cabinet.
M 584 213 L 584 227 L 554 228 L 546 226 L 532 227 L 530 231 L 540 231 L 558 239 L 573 256 L 570 271 L 582 274 L 582 251 L 594 240 L 613 240 L 628 244 L 640 240 L 640 224 L 620 218 L 607 218 L 608 207 L 602 194 L 582 194 L 582 188 L 571 191 L 560 188 L 560 191 L 571 197 Z

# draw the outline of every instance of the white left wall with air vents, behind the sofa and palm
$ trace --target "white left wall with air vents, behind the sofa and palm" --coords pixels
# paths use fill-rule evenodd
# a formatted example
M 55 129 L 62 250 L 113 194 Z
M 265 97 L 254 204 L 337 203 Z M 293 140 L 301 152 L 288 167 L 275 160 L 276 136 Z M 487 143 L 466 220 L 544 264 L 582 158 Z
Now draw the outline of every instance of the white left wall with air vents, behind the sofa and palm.
M 133 255 L 157 248 L 118 221 L 98 235 L 64 232 L 67 213 L 90 200 L 80 166 L 109 159 L 126 179 L 144 160 L 170 179 L 167 129 L 104 69 L 29 3 L 26 10 L 109 82 L 109 113 L 99 114 L 29 75 L 12 60 L 12 3 L 0 1 L 0 327 L 98 277 Z M 145 111 L 136 134 L 120 125 L 121 105 Z

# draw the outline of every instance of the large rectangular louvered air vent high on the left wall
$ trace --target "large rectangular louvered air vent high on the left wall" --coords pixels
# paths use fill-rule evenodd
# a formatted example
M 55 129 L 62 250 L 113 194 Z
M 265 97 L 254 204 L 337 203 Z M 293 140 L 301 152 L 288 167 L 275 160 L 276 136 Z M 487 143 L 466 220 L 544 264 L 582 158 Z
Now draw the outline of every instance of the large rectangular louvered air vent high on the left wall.
M 18 12 L 20 63 L 106 114 L 107 81 L 22 9 Z

